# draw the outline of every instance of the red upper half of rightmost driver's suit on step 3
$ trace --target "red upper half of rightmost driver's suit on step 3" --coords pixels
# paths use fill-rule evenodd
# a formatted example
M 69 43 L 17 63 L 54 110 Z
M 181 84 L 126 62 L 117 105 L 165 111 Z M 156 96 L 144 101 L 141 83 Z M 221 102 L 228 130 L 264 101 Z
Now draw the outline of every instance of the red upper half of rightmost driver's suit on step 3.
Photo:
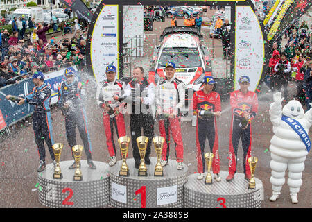
M 248 112 L 250 117 L 255 117 L 258 112 L 258 97 L 255 92 L 248 91 L 243 94 L 241 89 L 231 92 L 229 97 L 232 114 L 240 116 L 241 112 Z

